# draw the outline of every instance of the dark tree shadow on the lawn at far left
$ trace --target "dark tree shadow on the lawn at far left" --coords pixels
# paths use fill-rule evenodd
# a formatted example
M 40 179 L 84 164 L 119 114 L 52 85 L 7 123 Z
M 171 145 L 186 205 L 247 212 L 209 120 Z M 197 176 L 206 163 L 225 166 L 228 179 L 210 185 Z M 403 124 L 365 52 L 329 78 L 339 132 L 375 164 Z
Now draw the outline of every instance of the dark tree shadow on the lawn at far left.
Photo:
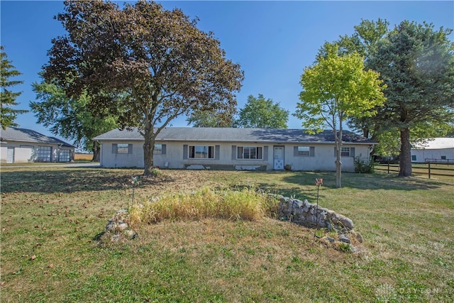
M 41 193 L 71 193 L 108 191 L 131 187 L 131 178 L 140 175 L 143 170 L 105 170 L 102 168 L 65 170 L 13 170 L 1 172 L 1 192 L 41 192 Z M 145 184 L 153 182 L 170 182 L 162 177 L 143 179 Z

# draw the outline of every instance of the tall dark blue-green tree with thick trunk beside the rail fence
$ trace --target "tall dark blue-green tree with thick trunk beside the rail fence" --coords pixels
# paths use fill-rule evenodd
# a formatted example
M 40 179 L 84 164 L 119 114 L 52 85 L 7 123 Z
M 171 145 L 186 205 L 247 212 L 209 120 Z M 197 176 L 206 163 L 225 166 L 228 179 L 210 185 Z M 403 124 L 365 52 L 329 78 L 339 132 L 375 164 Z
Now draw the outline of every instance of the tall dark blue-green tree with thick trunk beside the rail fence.
M 454 121 L 452 30 L 403 21 L 380 40 L 368 65 L 387 84 L 377 116 L 382 131 L 398 130 L 399 176 L 411 176 L 411 142 L 431 138 Z M 444 131 L 445 132 L 445 131 Z M 439 132 L 438 132 L 439 133 Z

